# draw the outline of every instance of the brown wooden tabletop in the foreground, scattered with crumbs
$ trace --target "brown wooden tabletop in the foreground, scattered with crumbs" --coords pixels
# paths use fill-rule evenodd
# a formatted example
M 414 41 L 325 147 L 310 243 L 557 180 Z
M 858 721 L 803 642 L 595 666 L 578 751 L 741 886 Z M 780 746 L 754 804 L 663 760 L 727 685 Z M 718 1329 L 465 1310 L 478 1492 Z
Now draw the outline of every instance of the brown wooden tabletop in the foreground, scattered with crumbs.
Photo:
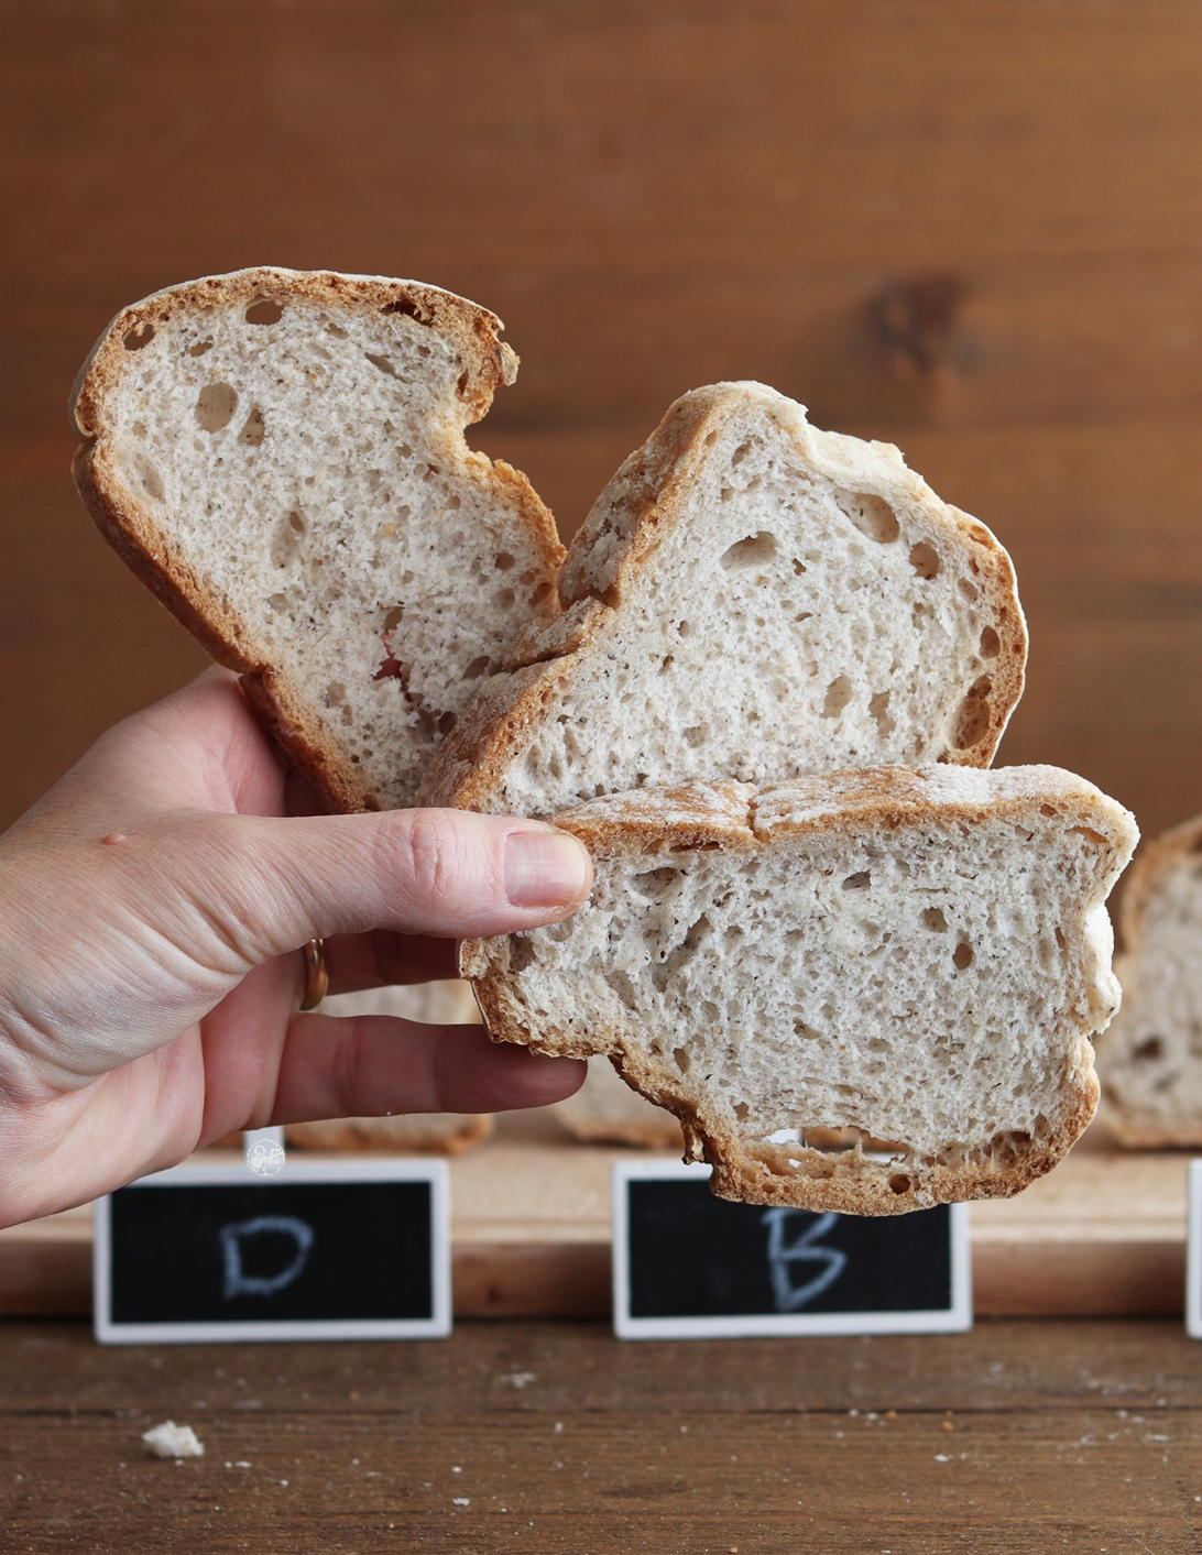
M 142 1432 L 191 1424 L 202 1459 Z M 1171 1322 L 619 1344 L 106 1350 L 0 1323 L 8 1552 L 1185 1555 L 1202 1348 Z

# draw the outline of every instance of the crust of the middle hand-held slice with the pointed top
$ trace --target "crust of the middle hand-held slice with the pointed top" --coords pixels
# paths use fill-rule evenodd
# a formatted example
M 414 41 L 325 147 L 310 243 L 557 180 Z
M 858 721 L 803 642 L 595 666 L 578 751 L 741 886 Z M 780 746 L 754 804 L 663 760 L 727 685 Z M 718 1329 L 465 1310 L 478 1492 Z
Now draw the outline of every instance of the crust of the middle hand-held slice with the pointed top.
M 975 708 L 983 732 L 964 750 L 949 743 L 938 759 L 963 767 L 991 765 L 1022 697 L 1026 672 L 1026 622 L 1008 552 L 984 524 L 942 502 L 907 468 L 893 445 L 819 432 L 804 420 L 801 406 L 791 406 L 762 384 L 712 384 L 680 398 L 597 499 L 560 569 L 561 622 L 572 617 L 574 630 L 564 631 L 557 624 L 540 639 L 527 636 L 515 645 L 510 670 L 543 662 L 543 672 L 501 673 L 491 678 L 496 684 L 480 687 L 435 753 L 418 790 L 420 804 L 490 807 L 554 689 L 566 690 L 578 675 L 589 673 L 591 658 L 617 624 L 631 582 L 655 564 L 658 547 L 684 521 L 708 443 L 754 401 L 762 401 L 777 425 L 785 423 L 787 407 L 791 407 L 788 429 L 819 473 L 840 484 L 858 482 L 893 499 L 921 504 L 928 518 L 967 547 L 977 586 L 992 611 L 998 652 L 989 664 L 987 700 Z

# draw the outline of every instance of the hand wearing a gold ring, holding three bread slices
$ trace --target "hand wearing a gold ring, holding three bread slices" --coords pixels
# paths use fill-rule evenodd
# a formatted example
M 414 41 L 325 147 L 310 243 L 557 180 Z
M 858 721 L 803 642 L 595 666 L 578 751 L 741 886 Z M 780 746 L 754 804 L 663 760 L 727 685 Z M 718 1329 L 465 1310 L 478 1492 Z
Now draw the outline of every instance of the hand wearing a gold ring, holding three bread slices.
M 313 815 L 208 670 L 103 736 L 0 837 L 0 1225 L 81 1204 L 232 1129 L 530 1107 L 585 1065 L 479 1026 L 300 1015 L 454 977 L 454 939 L 571 913 L 575 838 L 459 810 Z M 285 818 L 288 816 L 288 818 Z

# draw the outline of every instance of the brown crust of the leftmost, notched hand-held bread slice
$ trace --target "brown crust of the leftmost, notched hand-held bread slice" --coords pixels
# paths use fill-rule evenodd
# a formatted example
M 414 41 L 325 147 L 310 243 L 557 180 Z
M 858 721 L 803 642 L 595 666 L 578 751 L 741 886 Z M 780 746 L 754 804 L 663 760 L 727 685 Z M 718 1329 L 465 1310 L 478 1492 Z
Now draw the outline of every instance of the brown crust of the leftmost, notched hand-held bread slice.
M 459 387 L 465 426 L 488 412 L 498 387 L 513 383 L 518 356 L 501 341 L 504 325 L 496 314 L 437 286 L 378 275 L 257 266 L 169 286 L 123 308 L 92 347 L 72 389 L 72 425 L 82 439 L 72 473 L 100 532 L 218 664 L 238 672 L 264 729 L 330 810 L 378 809 L 365 776 L 348 760 L 288 673 L 272 662 L 264 644 L 215 597 L 188 555 L 138 501 L 106 446 L 106 398 L 138 359 L 137 350 L 126 347 L 128 337 L 138 339 L 179 314 L 218 313 L 263 300 L 313 302 L 369 313 L 403 311 L 449 336 L 465 364 Z M 518 521 L 527 527 L 550 582 L 564 555 L 550 512 L 526 476 L 504 462 L 482 470 L 482 477 L 515 504 Z

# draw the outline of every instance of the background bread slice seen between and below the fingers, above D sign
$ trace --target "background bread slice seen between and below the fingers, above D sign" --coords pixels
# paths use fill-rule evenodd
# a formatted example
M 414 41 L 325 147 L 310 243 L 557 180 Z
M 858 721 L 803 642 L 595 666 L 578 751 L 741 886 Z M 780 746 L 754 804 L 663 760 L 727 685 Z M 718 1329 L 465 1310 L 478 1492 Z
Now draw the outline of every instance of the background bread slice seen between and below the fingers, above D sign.
M 400 1015 L 426 1025 L 479 1025 L 480 1012 L 470 984 L 459 978 L 376 987 L 362 994 L 334 994 L 322 1001 L 323 1015 Z M 285 1143 L 313 1151 L 392 1151 L 400 1154 L 457 1155 L 493 1132 L 488 1112 L 406 1112 L 392 1118 L 331 1118 L 327 1123 L 289 1123 Z

